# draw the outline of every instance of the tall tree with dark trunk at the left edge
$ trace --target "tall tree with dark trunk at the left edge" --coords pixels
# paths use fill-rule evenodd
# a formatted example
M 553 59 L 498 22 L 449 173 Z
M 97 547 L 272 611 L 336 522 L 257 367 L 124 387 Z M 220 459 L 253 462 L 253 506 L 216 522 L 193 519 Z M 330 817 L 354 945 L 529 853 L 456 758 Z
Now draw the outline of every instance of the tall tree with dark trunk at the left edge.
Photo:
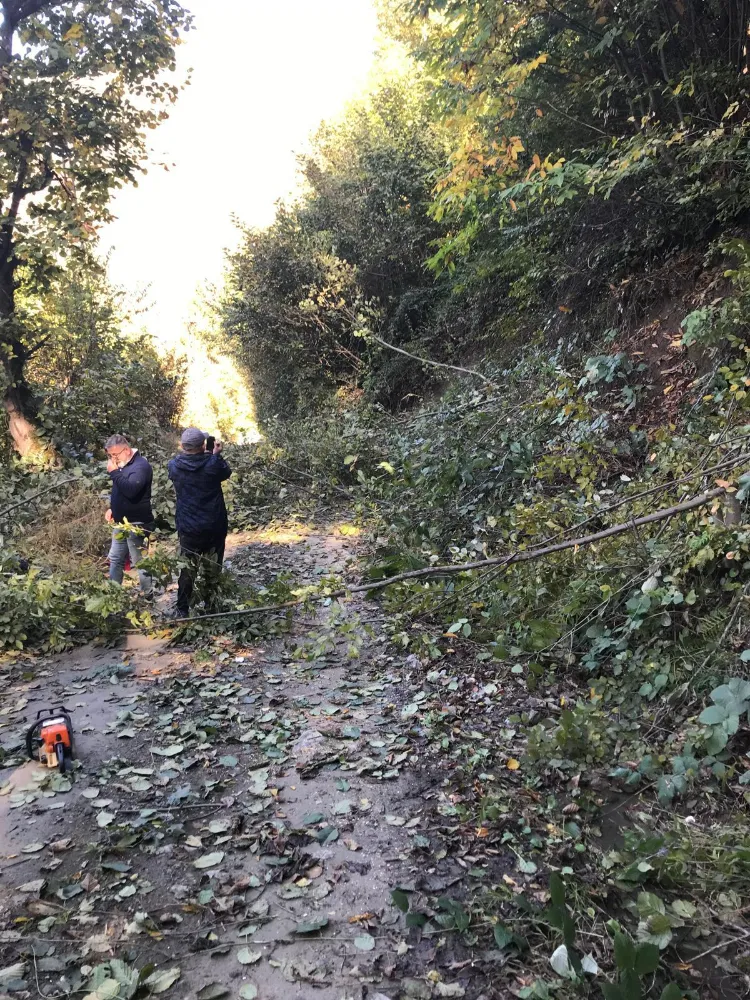
M 0 0 L 0 360 L 16 450 L 40 448 L 21 278 L 43 286 L 135 183 L 178 94 L 191 16 L 174 0 Z

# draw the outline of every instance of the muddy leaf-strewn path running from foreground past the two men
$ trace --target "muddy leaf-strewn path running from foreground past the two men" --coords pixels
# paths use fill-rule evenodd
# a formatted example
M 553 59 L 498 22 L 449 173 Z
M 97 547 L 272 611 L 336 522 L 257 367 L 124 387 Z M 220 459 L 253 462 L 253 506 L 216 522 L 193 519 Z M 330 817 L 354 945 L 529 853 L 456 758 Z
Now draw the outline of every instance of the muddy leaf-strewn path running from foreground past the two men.
M 228 557 L 240 578 L 312 582 L 353 573 L 356 542 L 290 528 Z M 409 661 L 377 605 L 346 614 L 343 638 L 322 611 L 248 648 L 131 636 L 0 667 L 0 994 L 465 995 L 408 977 L 434 948 L 407 940 L 392 891 L 461 869 L 421 852 Z M 53 703 L 73 714 L 70 778 L 23 762 Z

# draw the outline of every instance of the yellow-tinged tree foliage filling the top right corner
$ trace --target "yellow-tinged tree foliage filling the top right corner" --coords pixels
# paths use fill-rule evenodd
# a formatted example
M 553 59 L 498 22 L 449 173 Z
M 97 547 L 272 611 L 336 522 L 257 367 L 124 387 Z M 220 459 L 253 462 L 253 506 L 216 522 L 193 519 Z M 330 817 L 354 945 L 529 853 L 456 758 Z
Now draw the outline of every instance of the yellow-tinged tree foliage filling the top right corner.
M 555 305 L 633 272 L 651 275 L 628 282 L 647 299 L 668 255 L 750 206 L 741 3 L 396 6 L 443 113 L 465 125 L 437 184 L 452 231 L 436 266 L 472 250 L 502 271 L 520 247 Z

